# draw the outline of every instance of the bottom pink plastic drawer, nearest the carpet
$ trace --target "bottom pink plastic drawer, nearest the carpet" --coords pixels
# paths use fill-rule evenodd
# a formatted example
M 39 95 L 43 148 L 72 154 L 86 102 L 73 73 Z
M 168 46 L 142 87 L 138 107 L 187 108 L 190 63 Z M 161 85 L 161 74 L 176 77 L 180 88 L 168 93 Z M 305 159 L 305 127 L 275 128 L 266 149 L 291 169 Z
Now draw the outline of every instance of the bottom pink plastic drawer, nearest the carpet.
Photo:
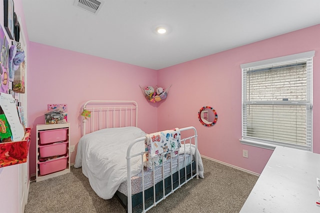
M 47 175 L 66 169 L 68 155 L 44 162 L 38 162 L 40 175 Z

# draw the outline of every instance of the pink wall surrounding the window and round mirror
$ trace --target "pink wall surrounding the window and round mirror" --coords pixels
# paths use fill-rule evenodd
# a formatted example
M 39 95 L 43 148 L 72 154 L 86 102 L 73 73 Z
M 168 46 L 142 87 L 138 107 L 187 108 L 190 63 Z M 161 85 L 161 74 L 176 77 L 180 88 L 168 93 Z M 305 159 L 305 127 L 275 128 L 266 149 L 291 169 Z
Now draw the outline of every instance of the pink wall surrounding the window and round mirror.
M 158 107 L 158 129 L 194 126 L 202 155 L 260 174 L 271 150 L 242 145 L 240 64 L 315 50 L 313 60 L 313 152 L 320 153 L 320 25 L 311 26 L 157 72 L 158 85 L 170 93 Z M 202 106 L 213 107 L 218 120 L 211 128 L 197 119 Z M 248 150 L 248 158 L 242 157 Z

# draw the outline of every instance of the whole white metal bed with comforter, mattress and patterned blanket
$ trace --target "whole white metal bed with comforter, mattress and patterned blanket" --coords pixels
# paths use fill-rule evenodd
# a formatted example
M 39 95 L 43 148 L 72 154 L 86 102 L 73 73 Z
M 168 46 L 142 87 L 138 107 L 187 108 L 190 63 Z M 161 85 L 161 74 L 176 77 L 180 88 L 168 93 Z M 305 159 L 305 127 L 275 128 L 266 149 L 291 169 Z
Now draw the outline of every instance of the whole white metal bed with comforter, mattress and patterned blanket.
M 146 212 L 191 179 L 203 178 L 194 127 L 145 133 L 135 101 L 87 101 L 75 168 L 102 199 Z M 130 181 L 127 181 L 130 180 Z

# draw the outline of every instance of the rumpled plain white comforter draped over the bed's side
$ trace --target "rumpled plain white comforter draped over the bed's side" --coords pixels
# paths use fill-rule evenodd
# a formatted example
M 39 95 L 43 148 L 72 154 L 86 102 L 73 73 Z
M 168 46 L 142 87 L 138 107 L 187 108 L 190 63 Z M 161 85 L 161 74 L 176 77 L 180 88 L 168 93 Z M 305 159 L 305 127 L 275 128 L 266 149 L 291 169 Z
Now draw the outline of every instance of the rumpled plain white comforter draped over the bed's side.
M 111 199 L 126 180 L 126 150 L 134 139 L 144 137 L 137 127 L 109 128 L 80 138 L 74 167 L 82 166 L 91 188 L 102 199 Z M 144 151 L 144 142 L 132 147 L 132 153 Z M 131 177 L 139 173 L 141 159 L 131 159 Z

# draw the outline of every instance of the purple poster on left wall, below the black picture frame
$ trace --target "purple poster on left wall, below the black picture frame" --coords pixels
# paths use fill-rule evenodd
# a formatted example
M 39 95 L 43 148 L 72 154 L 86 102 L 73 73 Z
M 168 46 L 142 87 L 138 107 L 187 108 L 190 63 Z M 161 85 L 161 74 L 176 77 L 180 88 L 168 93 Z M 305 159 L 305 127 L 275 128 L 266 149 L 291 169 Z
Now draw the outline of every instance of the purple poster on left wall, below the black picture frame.
M 0 25 L 0 92 L 8 93 L 8 55 L 9 42 L 4 34 L 3 27 Z

